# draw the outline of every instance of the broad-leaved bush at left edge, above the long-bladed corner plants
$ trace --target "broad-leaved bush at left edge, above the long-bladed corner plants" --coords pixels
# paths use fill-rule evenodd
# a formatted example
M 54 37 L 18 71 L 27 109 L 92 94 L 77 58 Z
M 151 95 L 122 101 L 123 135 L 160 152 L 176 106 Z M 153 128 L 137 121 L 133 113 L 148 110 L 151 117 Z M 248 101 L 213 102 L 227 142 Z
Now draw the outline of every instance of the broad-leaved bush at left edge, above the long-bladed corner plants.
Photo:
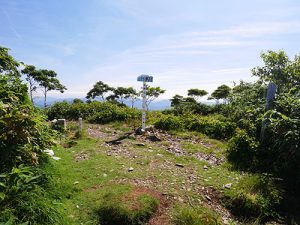
M 42 150 L 53 144 L 50 129 L 29 101 L 26 85 L 1 74 L 0 124 L 0 172 L 43 162 Z

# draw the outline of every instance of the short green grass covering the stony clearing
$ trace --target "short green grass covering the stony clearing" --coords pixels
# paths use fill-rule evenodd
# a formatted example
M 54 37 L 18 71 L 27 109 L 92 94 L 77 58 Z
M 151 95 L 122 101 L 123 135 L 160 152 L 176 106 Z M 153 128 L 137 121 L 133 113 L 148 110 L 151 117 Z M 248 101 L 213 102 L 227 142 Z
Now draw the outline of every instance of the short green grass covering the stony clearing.
M 124 128 L 124 131 L 120 132 L 115 130 L 112 125 L 101 126 L 99 129 L 102 132 L 109 132 L 114 135 L 109 139 L 122 136 L 122 133 L 128 130 Z M 115 135 L 115 132 L 118 135 Z M 183 136 L 183 134 L 176 135 Z M 189 138 L 200 138 L 199 134 L 193 136 L 195 134 L 191 132 L 185 135 Z M 208 139 L 205 136 L 201 136 L 201 138 L 202 143 L 205 143 L 209 148 L 204 148 L 201 143 L 191 144 L 187 140 L 182 142 L 181 146 L 185 150 L 189 148 L 191 152 L 201 151 L 215 155 L 221 154 L 226 148 L 224 142 Z M 211 224 L 214 221 L 219 221 L 220 215 L 211 213 L 210 210 L 206 209 L 207 207 L 203 204 L 206 201 L 205 196 L 204 193 L 199 192 L 199 188 L 213 188 L 220 194 L 218 197 L 224 195 L 224 199 L 227 200 L 227 202 L 224 201 L 224 204 L 233 212 L 235 209 L 231 206 L 234 205 L 234 199 L 239 196 L 239 193 L 242 192 L 249 198 L 255 198 L 255 201 L 257 195 L 262 195 L 261 193 L 253 194 L 255 178 L 252 175 L 232 171 L 226 163 L 209 165 L 192 156 L 174 156 L 165 150 L 168 146 L 167 141 L 149 142 L 145 146 L 137 146 L 136 143 L 140 141 L 127 138 L 122 140 L 120 146 L 108 147 L 105 144 L 107 139 L 107 137 L 105 139 L 83 137 L 76 140 L 77 144 L 71 148 L 58 147 L 55 149 L 56 155 L 61 157 L 61 160 L 55 161 L 53 164 L 56 187 L 62 192 L 61 203 L 64 208 L 64 224 L 98 224 L 101 215 L 103 217 L 103 212 L 107 212 L 107 210 L 111 213 L 126 215 L 124 217 L 131 218 L 129 220 L 138 221 L 139 219 L 132 218 L 138 218 L 137 215 L 140 215 L 139 210 L 131 211 L 129 199 L 124 201 L 122 198 L 122 196 L 132 192 L 134 184 L 148 187 L 176 199 L 183 199 L 182 207 L 187 209 L 177 213 L 178 221 L 185 221 L 185 217 L 187 221 L 191 218 L 191 220 L 195 219 L 197 221 L 200 217 L 203 217 L 208 221 L 212 221 Z M 113 148 L 123 150 L 126 148 L 125 152 L 127 153 L 125 154 L 123 151 L 123 153 L 119 152 L 118 155 L 108 156 L 107 151 L 111 151 Z M 76 157 L 80 154 L 85 154 L 88 157 L 76 161 Z M 176 166 L 176 163 L 183 164 L 183 167 Z M 203 169 L 204 165 L 208 165 L 207 170 Z M 134 170 L 128 172 L 129 167 L 133 167 Z M 194 177 L 192 182 L 190 182 L 191 176 Z M 231 189 L 223 187 L 228 183 L 232 184 Z M 152 215 L 156 207 L 156 203 L 154 204 L 156 200 L 152 197 L 151 195 L 146 197 L 145 202 L 143 202 L 146 210 L 142 214 L 147 215 L 142 216 L 143 218 Z M 105 201 L 108 198 L 113 200 Z M 134 201 L 138 202 L 139 200 L 134 199 Z M 174 204 L 176 204 L 176 201 Z M 107 204 L 108 202 L 114 204 Z M 188 208 L 189 204 L 196 205 L 197 209 Z M 151 207 L 148 208 L 147 205 Z M 167 212 L 169 218 L 171 218 L 172 212 L 171 207 Z M 199 213 L 202 216 L 197 219 L 195 215 Z M 105 224 L 103 221 L 102 223 Z M 174 221 L 173 223 L 179 224 L 179 222 L 175 223 Z M 197 224 L 197 222 L 194 224 Z

